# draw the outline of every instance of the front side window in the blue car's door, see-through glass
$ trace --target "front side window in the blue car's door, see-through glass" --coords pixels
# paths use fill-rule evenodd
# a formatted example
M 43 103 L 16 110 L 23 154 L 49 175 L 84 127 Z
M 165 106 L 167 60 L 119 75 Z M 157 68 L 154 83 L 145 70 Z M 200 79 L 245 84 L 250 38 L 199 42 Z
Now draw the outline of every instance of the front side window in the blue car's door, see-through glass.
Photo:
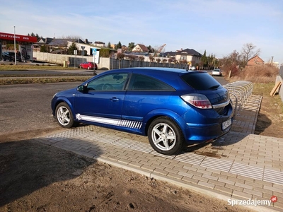
M 88 90 L 123 90 L 128 73 L 112 73 L 88 83 Z

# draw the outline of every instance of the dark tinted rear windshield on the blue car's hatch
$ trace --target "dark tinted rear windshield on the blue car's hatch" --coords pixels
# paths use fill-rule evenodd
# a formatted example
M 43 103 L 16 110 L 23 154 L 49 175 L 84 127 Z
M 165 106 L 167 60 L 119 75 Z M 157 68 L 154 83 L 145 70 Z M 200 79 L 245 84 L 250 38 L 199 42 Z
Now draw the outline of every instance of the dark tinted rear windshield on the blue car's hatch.
M 197 90 L 213 90 L 222 87 L 216 79 L 206 72 L 185 73 L 180 76 L 180 78 L 182 78 L 187 85 Z

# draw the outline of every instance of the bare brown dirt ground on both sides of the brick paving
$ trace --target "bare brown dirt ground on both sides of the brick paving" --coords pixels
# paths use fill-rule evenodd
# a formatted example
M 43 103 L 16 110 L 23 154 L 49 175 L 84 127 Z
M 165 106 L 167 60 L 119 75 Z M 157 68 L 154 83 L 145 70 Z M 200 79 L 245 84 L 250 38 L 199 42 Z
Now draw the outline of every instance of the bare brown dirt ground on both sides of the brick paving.
M 282 137 L 276 110 L 262 99 L 256 134 Z M 48 132 L 0 138 L 0 211 L 249 211 L 32 139 Z

